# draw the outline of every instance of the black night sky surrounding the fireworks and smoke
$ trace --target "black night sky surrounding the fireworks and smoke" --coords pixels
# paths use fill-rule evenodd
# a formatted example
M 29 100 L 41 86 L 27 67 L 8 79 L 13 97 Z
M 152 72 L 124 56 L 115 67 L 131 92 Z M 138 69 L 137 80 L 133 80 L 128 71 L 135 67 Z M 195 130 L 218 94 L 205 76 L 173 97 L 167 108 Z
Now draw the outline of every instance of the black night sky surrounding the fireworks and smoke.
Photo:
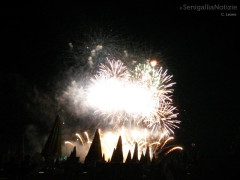
M 24 82 L 47 91 L 71 32 L 94 22 L 161 51 L 177 82 L 175 99 L 183 121 L 179 136 L 206 154 L 229 151 L 239 127 L 237 17 L 180 11 L 185 3 L 69 4 L 1 9 L 1 138 L 21 134 L 31 123 L 24 120 Z

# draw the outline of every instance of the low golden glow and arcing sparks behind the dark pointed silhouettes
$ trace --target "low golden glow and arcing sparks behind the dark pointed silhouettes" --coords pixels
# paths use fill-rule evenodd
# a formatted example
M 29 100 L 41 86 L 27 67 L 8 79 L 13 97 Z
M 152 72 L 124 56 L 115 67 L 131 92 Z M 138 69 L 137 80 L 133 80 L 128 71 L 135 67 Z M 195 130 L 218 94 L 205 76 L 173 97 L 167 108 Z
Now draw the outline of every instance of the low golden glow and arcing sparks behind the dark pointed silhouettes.
M 78 133 L 76 133 L 78 134 Z M 84 132 L 86 137 L 88 136 L 87 132 Z M 156 152 L 161 152 L 163 149 L 169 149 L 165 155 L 169 154 L 175 149 L 182 149 L 180 146 L 166 146 L 170 140 L 173 140 L 173 137 L 168 137 L 167 133 L 163 133 L 159 139 L 156 141 L 157 137 L 153 137 L 151 131 L 148 129 L 141 128 L 118 128 L 108 131 L 100 131 L 100 139 L 102 144 L 102 153 L 105 156 L 105 159 L 111 159 L 113 149 L 117 145 L 119 136 L 122 138 L 122 150 L 123 150 L 123 160 L 125 161 L 130 150 L 131 154 L 134 153 L 135 143 L 138 143 L 138 159 L 142 152 L 146 152 L 147 147 L 149 147 L 150 158 L 153 157 L 153 154 Z M 80 136 L 81 137 L 81 136 Z M 88 140 L 89 141 L 89 140 Z M 66 141 L 68 144 L 74 146 L 73 143 Z M 65 142 L 65 144 L 66 144 Z M 91 143 L 90 141 L 88 143 Z M 81 147 L 89 147 L 87 143 L 84 143 Z M 165 152 L 165 151 L 164 151 Z

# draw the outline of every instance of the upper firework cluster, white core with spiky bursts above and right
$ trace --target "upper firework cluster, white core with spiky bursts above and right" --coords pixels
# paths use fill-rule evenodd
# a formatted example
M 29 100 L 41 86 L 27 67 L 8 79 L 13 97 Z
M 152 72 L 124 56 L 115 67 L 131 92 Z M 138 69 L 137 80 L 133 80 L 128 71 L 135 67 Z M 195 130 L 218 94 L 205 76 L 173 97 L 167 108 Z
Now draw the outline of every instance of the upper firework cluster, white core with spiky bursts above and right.
M 120 61 L 107 60 L 87 91 L 87 102 L 105 119 L 116 123 L 145 124 L 152 132 L 165 130 L 173 134 L 180 121 L 172 105 L 172 76 L 167 70 L 155 69 L 149 63 L 138 64 L 128 71 Z

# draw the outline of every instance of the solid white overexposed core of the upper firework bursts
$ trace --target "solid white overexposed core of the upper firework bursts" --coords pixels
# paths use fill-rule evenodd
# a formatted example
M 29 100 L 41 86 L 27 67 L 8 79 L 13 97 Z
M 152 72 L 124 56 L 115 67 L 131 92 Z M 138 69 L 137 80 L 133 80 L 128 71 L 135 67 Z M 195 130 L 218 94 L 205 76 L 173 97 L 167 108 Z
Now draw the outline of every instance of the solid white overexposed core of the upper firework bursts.
M 90 89 L 88 102 L 104 113 L 149 115 L 156 108 L 156 100 L 147 89 L 116 78 L 96 82 Z

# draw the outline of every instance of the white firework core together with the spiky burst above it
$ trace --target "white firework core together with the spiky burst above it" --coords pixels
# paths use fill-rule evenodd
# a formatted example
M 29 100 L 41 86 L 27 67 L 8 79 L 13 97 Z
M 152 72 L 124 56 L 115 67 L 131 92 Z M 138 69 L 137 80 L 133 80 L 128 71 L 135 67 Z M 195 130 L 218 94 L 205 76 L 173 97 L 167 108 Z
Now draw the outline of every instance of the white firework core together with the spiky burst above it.
M 121 61 L 109 60 L 108 65 L 101 64 L 92 79 L 87 99 L 97 113 L 105 115 L 105 119 L 121 118 L 123 121 L 149 116 L 157 103 L 147 87 L 132 81 Z

